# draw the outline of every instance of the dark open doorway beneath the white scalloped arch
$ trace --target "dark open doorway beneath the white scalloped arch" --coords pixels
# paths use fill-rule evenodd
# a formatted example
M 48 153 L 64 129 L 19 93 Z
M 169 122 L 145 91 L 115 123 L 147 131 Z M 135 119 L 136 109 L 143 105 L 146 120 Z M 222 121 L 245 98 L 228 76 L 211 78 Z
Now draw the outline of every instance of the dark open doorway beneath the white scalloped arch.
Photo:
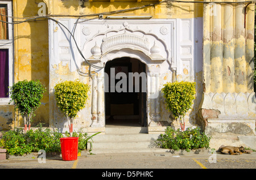
M 122 57 L 105 66 L 105 125 L 147 126 L 146 65 Z

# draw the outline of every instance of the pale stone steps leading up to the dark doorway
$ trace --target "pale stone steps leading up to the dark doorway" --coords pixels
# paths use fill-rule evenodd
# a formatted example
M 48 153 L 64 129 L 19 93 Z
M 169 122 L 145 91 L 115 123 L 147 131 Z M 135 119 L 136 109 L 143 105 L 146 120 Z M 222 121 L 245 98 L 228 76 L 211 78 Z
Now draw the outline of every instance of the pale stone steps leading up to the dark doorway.
M 166 149 L 156 148 L 155 140 L 159 134 L 147 132 L 147 127 L 106 127 L 105 134 L 98 134 L 92 139 L 92 153 L 122 153 L 122 152 L 166 152 Z

